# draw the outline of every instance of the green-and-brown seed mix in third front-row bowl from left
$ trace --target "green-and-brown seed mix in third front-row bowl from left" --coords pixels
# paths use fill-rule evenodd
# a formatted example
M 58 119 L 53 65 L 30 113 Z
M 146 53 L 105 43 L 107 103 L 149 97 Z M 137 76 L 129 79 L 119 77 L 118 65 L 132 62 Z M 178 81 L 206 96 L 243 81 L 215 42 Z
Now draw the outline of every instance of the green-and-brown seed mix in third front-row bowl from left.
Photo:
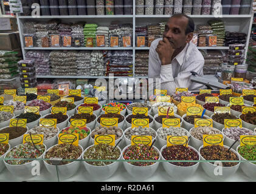
M 120 157 L 120 150 L 114 149 L 114 151 L 112 151 L 113 149 L 114 149 L 114 146 L 109 146 L 108 144 L 94 145 L 85 151 L 83 155 L 83 159 L 103 159 L 103 160 L 118 159 Z M 108 162 L 108 161 L 100 161 L 100 162 L 86 161 L 86 162 L 93 166 L 106 166 L 106 165 L 112 164 L 112 162 Z

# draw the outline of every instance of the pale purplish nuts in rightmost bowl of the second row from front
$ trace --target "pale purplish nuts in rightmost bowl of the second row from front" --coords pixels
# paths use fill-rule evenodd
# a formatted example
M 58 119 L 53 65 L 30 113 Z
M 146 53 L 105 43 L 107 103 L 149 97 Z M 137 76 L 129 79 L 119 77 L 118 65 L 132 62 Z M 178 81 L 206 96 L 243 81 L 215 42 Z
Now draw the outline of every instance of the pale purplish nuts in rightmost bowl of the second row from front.
M 228 138 L 235 140 L 240 140 L 240 135 L 255 135 L 252 130 L 240 128 L 240 127 L 230 127 L 225 128 L 223 130 L 224 135 L 226 135 Z

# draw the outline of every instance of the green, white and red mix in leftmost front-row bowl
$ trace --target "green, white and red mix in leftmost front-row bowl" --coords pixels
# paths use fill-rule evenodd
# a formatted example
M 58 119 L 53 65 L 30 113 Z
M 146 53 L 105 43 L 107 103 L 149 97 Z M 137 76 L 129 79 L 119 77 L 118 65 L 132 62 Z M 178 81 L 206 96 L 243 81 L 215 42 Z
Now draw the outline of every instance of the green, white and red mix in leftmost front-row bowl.
M 35 148 L 36 147 L 36 148 Z M 13 147 L 9 153 L 5 156 L 6 158 L 38 158 L 43 155 L 46 147 L 44 145 L 33 145 L 32 143 L 19 144 L 17 147 Z M 7 164 L 21 165 L 31 160 L 6 160 Z

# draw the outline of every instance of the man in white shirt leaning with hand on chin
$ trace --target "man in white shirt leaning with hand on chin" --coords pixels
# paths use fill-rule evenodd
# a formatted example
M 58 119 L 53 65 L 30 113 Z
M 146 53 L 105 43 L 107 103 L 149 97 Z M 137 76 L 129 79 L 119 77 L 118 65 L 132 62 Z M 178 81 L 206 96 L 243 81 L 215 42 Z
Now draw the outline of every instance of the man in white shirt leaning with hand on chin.
M 195 24 L 184 14 L 171 16 L 165 25 L 163 38 L 151 43 L 148 78 L 161 78 L 161 90 L 173 95 L 177 87 L 199 90 L 204 85 L 192 82 L 190 72 L 203 75 L 204 58 L 193 42 Z

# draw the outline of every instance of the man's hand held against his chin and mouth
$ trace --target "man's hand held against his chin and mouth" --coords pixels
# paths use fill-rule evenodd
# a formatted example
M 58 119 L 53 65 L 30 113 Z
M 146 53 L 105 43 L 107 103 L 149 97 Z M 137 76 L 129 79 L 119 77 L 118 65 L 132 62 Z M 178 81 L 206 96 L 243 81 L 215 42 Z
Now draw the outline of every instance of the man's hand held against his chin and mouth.
M 171 47 L 171 44 L 167 38 L 163 38 L 162 41 L 159 41 L 156 47 L 156 52 L 159 55 L 161 64 L 168 65 L 171 64 L 171 58 L 173 56 L 173 53 L 175 52 L 175 49 Z

